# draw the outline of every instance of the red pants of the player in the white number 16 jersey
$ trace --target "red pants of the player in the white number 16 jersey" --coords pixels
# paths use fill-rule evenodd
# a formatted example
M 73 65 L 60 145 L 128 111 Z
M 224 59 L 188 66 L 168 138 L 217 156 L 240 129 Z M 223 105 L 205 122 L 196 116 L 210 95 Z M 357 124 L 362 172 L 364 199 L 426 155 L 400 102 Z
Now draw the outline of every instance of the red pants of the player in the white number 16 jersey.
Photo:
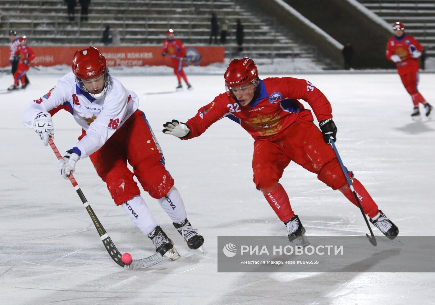
M 90 160 L 98 176 L 106 182 L 117 206 L 141 194 L 133 175 L 156 199 L 166 196 L 174 185 L 174 179 L 164 167 L 160 146 L 140 110 L 136 110 L 100 149 L 90 155 Z M 133 172 L 127 168 L 127 161 Z

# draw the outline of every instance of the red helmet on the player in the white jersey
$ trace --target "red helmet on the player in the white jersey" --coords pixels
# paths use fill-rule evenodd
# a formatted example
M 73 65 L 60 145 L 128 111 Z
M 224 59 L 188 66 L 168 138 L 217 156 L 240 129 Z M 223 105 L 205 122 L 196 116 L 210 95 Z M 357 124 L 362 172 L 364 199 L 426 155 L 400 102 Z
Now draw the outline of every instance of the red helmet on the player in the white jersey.
M 106 58 L 96 47 L 90 46 L 76 51 L 71 68 L 77 78 L 86 80 L 107 70 Z

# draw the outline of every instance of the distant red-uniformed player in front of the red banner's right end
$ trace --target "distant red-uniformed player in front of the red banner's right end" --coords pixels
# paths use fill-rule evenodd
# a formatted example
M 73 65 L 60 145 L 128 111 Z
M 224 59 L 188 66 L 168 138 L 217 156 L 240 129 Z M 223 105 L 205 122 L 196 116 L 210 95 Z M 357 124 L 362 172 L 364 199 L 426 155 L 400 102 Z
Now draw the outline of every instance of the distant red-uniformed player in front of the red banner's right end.
M 174 74 L 177 76 L 178 86 L 176 89 L 181 89 L 181 78 L 187 85 L 187 89 L 191 90 L 192 85 L 187 81 L 186 73 L 183 70 L 183 62 L 186 57 L 186 49 L 183 43 L 174 38 L 174 30 L 169 29 L 166 31 L 167 39 L 163 42 L 163 56 L 171 57 L 172 67 L 174 68 Z

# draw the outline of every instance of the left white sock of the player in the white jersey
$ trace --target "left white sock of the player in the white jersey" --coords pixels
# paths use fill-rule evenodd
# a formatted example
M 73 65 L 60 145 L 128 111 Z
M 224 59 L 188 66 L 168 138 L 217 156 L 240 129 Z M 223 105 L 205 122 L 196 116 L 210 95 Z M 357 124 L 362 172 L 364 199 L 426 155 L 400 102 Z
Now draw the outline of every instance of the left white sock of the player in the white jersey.
M 144 234 L 148 235 L 154 231 L 157 222 L 141 196 L 134 196 L 132 199 L 124 202 L 122 207 L 130 219 L 133 220 L 134 224 L 144 232 Z

